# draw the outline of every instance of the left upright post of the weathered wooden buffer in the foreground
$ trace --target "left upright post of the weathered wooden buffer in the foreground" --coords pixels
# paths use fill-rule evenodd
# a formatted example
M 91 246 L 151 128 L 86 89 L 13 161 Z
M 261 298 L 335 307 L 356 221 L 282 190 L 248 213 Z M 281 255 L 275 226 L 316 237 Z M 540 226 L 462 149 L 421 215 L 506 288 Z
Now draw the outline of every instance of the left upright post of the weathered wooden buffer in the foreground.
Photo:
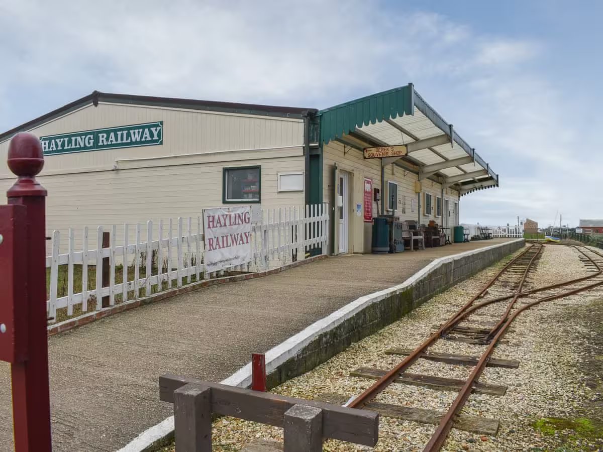
M 174 391 L 176 452 L 211 452 L 212 390 L 189 383 Z

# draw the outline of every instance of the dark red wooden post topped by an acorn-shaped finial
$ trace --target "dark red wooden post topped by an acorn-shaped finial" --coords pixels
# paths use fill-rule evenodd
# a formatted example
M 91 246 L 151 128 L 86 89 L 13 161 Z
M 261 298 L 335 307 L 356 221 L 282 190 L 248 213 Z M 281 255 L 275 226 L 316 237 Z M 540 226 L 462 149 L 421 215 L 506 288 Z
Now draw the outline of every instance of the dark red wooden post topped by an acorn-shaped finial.
M 8 147 L 8 168 L 17 175 L 8 190 L 8 204 L 25 206 L 27 233 L 21 250 L 27 253 L 27 360 L 12 363 L 14 448 L 16 452 L 52 450 L 46 333 L 46 190 L 36 181 L 44 157 L 40 140 L 16 134 Z

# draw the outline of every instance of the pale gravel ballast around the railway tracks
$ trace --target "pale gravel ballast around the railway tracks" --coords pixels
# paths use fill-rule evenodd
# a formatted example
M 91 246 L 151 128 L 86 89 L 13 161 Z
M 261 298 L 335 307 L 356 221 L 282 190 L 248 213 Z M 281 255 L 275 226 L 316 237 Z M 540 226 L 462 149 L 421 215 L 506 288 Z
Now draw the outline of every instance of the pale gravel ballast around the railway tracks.
M 537 269 L 531 272 L 525 287 L 545 286 L 588 275 L 579 256 L 578 251 L 569 246 L 545 246 Z M 350 372 L 359 367 L 387 370 L 395 366 L 403 357 L 385 354 L 386 350 L 392 347 L 417 347 L 437 325 L 446 321 L 478 292 L 509 259 L 510 257 L 440 293 L 399 321 L 365 337 L 311 372 L 289 380 L 271 392 L 305 399 L 324 393 L 347 397 L 360 394 L 374 380 L 351 377 Z M 504 288 L 493 286 L 488 297 L 496 297 L 498 293 L 504 293 Z M 603 440 L 598 438 L 598 432 L 603 432 L 598 430 L 599 421 L 603 417 L 600 413 L 601 403 L 598 403 L 601 400 L 601 381 L 598 375 L 592 375 L 600 369 L 597 365 L 601 360 L 596 357 L 603 353 L 599 348 L 603 345 L 599 342 L 599 345 L 595 344 L 589 350 L 592 339 L 597 334 L 593 328 L 598 324 L 589 322 L 592 315 L 576 314 L 592 313 L 595 310 L 603 318 L 602 293 L 596 290 L 579 293 L 523 312 L 508 330 L 505 336 L 507 342 L 498 344 L 493 354 L 494 358 L 518 360 L 519 368 L 487 367 L 479 379 L 480 383 L 506 385 L 507 392 L 502 396 L 472 394 L 461 412 L 498 419 L 499 432 L 496 436 L 485 436 L 453 428 L 443 450 L 603 448 Z M 491 327 L 488 321 L 500 315 L 504 307 L 506 303 L 488 306 L 480 314 L 488 313 L 492 317 L 471 316 L 463 325 Z M 479 356 L 484 350 L 485 347 L 481 345 L 444 340 L 438 341 L 429 349 L 430 352 L 473 356 Z M 584 365 L 584 362 L 590 364 Z M 414 374 L 462 379 L 467 378 L 471 371 L 471 366 L 423 359 L 417 360 L 408 369 L 408 372 Z M 456 391 L 394 383 L 379 394 L 376 401 L 446 411 L 457 394 Z M 543 419 L 565 419 L 567 422 Z M 551 422 L 554 427 L 551 427 Z M 581 428 L 582 425 L 587 427 Z M 324 443 L 324 450 L 420 451 L 435 428 L 436 425 L 380 416 L 379 442 L 374 449 L 329 440 Z M 216 451 L 240 450 L 255 438 L 282 440 L 282 429 L 226 417 L 214 422 L 213 444 Z

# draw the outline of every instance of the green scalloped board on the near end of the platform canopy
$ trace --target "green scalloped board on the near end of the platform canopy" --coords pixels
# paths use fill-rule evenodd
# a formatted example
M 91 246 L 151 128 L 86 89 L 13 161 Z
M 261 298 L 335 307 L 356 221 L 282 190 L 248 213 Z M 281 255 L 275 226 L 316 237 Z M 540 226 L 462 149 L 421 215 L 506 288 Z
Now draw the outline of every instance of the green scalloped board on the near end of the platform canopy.
M 376 93 L 318 111 L 320 142 L 341 138 L 362 125 L 414 113 L 412 84 Z

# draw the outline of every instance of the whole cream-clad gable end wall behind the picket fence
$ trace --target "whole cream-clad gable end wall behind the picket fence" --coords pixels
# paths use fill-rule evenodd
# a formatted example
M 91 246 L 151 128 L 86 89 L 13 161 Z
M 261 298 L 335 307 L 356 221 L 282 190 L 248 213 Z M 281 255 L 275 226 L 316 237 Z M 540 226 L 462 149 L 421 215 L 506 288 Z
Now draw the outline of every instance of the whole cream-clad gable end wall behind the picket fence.
M 151 219 L 156 229 L 159 219 L 201 215 L 204 207 L 222 205 L 223 167 L 261 165 L 264 209 L 303 206 L 303 192 L 277 191 L 278 172 L 304 169 L 299 119 L 101 102 L 31 132 L 45 136 L 154 121 L 163 121 L 162 145 L 45 157 L 39 180 L 48 189 L 48 235 L 56 229 L 66 237 L 73 227 L 78 248 L 86 225 Z M 14 182 L 5 163 L 8 144 L 0 143 L 3 192 Z M 90 246 L 95 237 L 90 234 Z

